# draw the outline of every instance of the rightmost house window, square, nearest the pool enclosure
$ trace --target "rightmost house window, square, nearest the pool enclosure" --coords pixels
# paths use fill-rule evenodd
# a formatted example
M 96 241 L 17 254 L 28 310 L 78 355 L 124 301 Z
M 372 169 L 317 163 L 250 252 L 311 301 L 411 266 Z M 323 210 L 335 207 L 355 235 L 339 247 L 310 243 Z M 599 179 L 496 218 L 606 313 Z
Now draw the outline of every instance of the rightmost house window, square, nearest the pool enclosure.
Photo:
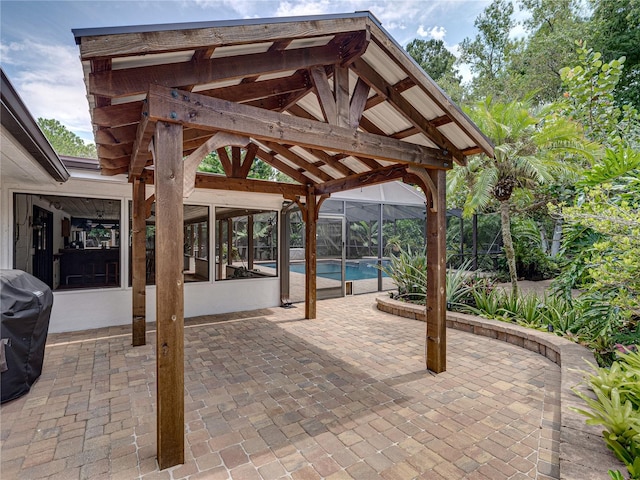
M 216 280 L 278 274 L 278 212 L 216 208 Z

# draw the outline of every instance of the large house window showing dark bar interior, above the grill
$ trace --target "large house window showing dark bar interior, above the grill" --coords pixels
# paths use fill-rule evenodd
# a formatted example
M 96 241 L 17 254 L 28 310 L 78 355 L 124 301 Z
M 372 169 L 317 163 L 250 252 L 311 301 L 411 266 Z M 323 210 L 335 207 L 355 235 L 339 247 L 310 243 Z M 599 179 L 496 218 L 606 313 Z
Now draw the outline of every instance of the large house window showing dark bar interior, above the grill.
M 120 201 L 14 195 L 14 268 L 52 290 L 120 286 Z

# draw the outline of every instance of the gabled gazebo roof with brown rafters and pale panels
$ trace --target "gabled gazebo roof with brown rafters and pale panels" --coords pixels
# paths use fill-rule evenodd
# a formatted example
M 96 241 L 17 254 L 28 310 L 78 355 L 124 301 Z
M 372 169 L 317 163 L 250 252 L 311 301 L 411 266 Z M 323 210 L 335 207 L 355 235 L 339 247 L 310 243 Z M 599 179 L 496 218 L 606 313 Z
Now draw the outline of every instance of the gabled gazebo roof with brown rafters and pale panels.
M 149 171 L 159 120 L 182 123 L 185 157 L 217 150 L 228 189 L 254 157 L 326 194 L 493 155 L 369 12 L 73 33 L 104 175 Z

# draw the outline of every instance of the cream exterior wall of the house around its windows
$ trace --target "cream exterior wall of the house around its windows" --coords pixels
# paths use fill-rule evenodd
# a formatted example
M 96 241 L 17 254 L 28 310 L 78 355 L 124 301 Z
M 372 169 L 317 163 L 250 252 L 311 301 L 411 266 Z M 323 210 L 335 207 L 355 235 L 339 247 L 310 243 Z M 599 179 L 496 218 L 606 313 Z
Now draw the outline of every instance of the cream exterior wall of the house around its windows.
M 14 194 L 32 195 L 70 195 L 76 197 L 93 197 L 119 200 L 121 208 L 121 231 L 123 232 L 120 249 L 121 284 L 114 288 L 96 288 L 83 290 L 54 291 L 54 303 L 51 313 L 49 331 L 51 333 L 83 330 L 131 323 L 132 292 L 128 285 L 129 278 L 129 201 L 132 188 L 120 177 L 101 177 L 91 172 L 71 172 L 72 177 L 65 183 L 47 183 L 42 185 L 26 184 L 12 178 L 0 179 L 0 266 L 3 269 L 14 268 Z M 153 193 L 153 186 L 147 187 L 147 196 Z M 214 252 L 213 226 L 215 225 L 215 208 L 234 206 L 269 208 L 279 211 L 282 208 L 282 197 L 253 193 L 237 193 L 227 191 L 196 190 L 185 203 L 209 206 L 211 225 L 210 252 Z M 25 206 L 20 207 L 21 214 Z M 55 209 L 54 209 L 55 210 Z M 60 219 L 54 218 L 54 237 L 60 238 Z M 22 232 L 21 232 L 22 235 Z M 28 239 L 25 237 L 25 241 Z M 22 240 L 21 240 L 22 241 Z M 30 243 L 25 243 L 28 248 Z M 56 246 L 56 249 L 59 246 Z M 211 254 L 213 256 L 213 253 Z M 29 262 L 24 257 L 19 260 L 17 268 L 27 267 Z M 280 304 L 279 278 L 239 279 L 214 281 L 215 262 L 209 262 L 208 281 L 187 282 L 184 285 L 185 317 L 227 313 L 257 308 L 268 308 Z M 24 269 L 24 268 L 23 268 Z M 155 286 L 147 287 L 146 294 L 147 321 L 155 321 Z

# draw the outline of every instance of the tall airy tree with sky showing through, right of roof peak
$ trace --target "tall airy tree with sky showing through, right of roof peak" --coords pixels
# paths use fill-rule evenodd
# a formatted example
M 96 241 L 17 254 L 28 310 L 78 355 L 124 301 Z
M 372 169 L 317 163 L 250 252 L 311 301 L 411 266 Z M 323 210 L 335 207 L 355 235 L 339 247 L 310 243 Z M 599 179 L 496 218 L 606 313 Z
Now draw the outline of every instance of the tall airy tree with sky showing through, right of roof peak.
M 478 34 L 474 39 L 465 38 L 460 44 L 460 61 L 468 63 L 476 74 L 472 82 L 476 98 L 506 93 L 507 60 L 515 48 L 515 43 L 509 39 L 515 26 L 512 14 L 510 1 L 493 0 L 474 22 Z

